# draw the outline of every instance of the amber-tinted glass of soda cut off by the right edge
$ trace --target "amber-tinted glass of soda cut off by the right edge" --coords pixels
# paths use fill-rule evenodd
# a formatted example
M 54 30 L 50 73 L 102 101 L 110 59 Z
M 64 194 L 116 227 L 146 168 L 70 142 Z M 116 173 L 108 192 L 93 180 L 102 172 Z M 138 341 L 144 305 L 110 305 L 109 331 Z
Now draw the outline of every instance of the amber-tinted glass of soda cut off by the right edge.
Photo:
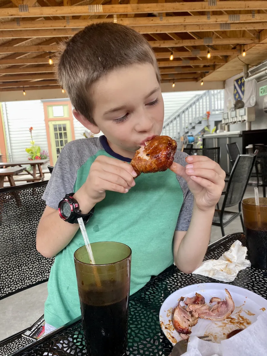
M 248 259 L 251 266 L 267 270 L 267 198 L 242 200 Z

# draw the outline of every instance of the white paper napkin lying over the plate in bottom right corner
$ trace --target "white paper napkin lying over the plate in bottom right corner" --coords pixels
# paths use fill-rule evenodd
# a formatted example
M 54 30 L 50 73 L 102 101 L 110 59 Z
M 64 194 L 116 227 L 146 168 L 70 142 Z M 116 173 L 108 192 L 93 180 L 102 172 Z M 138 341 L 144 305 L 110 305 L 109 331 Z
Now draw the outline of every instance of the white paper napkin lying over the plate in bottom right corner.
M 267 313 L 261 313 L 257 321 L 221 344 L 189 337 L 187 352 L 183 356 L 266 356 Z

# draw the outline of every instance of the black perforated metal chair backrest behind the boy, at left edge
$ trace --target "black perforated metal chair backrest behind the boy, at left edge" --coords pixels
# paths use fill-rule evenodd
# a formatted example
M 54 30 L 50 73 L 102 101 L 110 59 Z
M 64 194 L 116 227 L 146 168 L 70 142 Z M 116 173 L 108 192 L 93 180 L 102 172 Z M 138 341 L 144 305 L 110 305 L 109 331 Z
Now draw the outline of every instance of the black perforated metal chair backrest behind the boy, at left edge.
M 47 281 L 53 259 L 36 250 L 48 181 L 0 189 L 0 299 Z

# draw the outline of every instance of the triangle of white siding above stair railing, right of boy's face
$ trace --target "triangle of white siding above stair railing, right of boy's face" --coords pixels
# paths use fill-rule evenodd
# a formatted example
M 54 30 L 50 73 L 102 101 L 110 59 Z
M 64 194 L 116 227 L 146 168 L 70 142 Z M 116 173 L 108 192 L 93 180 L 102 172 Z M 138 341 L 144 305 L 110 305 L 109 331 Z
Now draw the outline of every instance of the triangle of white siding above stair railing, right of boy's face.
M 164 121 L 168 119 L 175 111 L 181 108 L 193 96 L 201 95 L 204 90 L 196 91 L 172 91 L 171 93 L 162 93 L 164 101 Z

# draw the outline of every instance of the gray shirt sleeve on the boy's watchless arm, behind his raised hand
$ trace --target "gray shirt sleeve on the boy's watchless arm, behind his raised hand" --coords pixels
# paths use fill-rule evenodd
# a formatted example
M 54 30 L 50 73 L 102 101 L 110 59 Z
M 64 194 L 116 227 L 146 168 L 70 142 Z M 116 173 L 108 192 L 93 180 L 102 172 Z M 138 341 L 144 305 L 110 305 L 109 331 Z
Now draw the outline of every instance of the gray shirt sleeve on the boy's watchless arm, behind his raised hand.
M 188 155 L 186 153 L 177 151 L 174 156 L 174 162 L 179 163 L 185 167 L 185 165 L 187 164 L 185 162 L 185 157 L 187 156 Z M 187 231 L 192 218 L 194 197 L 188 188 L 187 182 L 180 176 L 176 176 L 176 177 L 183 191 L 184 201 L 179 213 L 175 230 Z

